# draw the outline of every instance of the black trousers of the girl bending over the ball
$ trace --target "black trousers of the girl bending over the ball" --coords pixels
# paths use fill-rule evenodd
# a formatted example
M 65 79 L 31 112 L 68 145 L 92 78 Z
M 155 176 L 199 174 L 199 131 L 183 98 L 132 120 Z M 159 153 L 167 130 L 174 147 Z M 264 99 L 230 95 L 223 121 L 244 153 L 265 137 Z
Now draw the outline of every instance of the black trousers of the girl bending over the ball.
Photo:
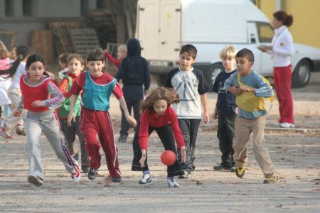
M 165 126 L 161 126 L 159 128 L 155 128 L 152 126 L 149 126 L 149 136 L 153 131 L 156 131 L 158 134 L 162 144 L 164 145 L 165 150 L 171 150 L 174 153 L 176 153 L 176 144 L 174 141 L 174 132 L 171 129 L 171 125 L 167 124 Z M 139 160 L 142 158 L 141 148 L 139 146 L 139 127 L 136 130 L 136 133 L 134 133 L 134 139 L 132 141 L 133 151 L 134 151 L 134 158 L 132 160 L 132 169 L 133 171 L 146 171 L 149 170 L 148 162 L 146 157 L 146 160 L 144 161 L 144 167 L 142 168 Z M 167 173 L 168 177 L 174 177 L 178 175 L 183 175 L 184 172 L 181 168 L 180 163 L 178 163 L 178 160 L 176 159 L 176 162 L 174 162 L 173 165 L 167 166 Z

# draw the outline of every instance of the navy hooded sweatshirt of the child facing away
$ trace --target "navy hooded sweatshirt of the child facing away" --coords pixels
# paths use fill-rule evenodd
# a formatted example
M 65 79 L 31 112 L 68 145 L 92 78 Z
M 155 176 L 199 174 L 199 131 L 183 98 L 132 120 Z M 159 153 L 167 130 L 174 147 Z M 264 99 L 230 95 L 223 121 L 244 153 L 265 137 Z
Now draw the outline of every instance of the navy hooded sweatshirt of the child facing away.
M 114 77 L 122 79 L 124 98 L 143 99 L 144 90 L 150 87 L 150 70 L 146 59 L 141 57 L 140 43 L 136 38 L 128 40 L 127 57 L 122 60 L 119 71 Z

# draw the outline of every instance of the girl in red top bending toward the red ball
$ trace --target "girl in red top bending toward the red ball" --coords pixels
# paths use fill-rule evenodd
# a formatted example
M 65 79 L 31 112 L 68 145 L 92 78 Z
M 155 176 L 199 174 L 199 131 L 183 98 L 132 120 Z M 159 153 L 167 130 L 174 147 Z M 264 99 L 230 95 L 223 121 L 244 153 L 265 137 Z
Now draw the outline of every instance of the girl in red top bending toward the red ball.
M 139 184 L 151 182 L 151 175 L 146 162 L 146 151 L 149 135 L 156 131 L 165 150 L 176 153 L 176 144 L 181 152 L 181 162 L 186 161 L 186 147 L 184 146 L 183 136 L 178 126 L 178 119 L 171 104 L 179 102 L 179 96 L 173 89 L 159 87 L 150 92 L 142 103 L 142 116 L 139 128 L 134 134 L 133 149 L 134 159 L 132 170 L 143 173 Z M 173 165 L 167 167 L 167 182 L 169 187 L 178 187 L 174 176 L 184 175 L 178 160 Z

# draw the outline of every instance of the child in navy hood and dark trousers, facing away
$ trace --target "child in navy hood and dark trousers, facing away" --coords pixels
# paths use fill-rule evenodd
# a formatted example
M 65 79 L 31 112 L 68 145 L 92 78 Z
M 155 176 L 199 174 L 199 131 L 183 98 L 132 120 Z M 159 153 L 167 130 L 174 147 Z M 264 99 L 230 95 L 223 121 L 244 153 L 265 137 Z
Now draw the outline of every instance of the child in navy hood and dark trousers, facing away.
M 131 114 L 133 108 L 134 119 L 139 122 L 140 103 L 144 99 L 144 93 L 150 87 L 150 70 L 148 62 L 141 56 L 139 40 L 130 38 L 127 42 L 127 51 L 127 57 L 122 60 L 119 71 L 114 78 L 117 80 L 122 79 L 122 91 L 129 113 Z M 142 87 L 142 84 L 144 87 Z M 123 110 L 121 111 L 121 129 L 118 141 L 126 142 L 130 125 L 124 116 Z

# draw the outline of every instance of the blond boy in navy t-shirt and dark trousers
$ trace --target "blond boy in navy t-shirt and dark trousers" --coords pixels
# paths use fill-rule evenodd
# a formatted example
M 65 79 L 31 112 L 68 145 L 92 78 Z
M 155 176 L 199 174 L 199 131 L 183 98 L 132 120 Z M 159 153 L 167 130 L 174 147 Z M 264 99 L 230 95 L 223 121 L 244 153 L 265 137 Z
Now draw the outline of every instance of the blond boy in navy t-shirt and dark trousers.
M 213 111 L 212 119 L 218 119 L 217 136 L 219 138 L 219 149 L 222 153 L 220 165 L 213 166 L 214 170 L 235 171 L 235 162 L 233 161 L 233 138 L 235 138 L 235 95 L 225 89 L 225 80 L 236 72 L 235 54 L 237 49 L 234 46 L 226 46 L 220 52 L 225 70 L 220 72 L 215 78 L 213 92 L 218 93 L 217 102 Z

